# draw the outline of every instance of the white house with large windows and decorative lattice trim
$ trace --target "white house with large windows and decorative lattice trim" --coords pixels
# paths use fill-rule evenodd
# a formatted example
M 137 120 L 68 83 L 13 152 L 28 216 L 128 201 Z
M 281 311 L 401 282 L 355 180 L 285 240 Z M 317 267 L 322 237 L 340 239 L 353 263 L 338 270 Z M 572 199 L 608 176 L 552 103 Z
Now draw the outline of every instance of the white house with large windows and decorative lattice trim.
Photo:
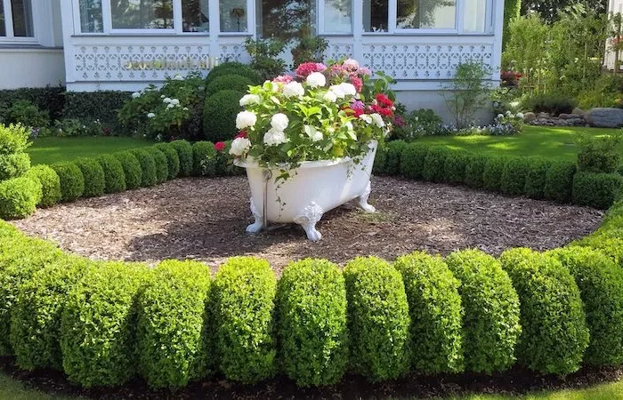
M 360 60 L 396 77 L 409 107 L 438 108 L 461 61 L 499 80 L 503 13 L 503 0 L 0 0 L 0 88 L 134 91 L 207 73 L 249 60 L 247 37 L 283 34 L 295 15 L 328 40 L 328 59 Z

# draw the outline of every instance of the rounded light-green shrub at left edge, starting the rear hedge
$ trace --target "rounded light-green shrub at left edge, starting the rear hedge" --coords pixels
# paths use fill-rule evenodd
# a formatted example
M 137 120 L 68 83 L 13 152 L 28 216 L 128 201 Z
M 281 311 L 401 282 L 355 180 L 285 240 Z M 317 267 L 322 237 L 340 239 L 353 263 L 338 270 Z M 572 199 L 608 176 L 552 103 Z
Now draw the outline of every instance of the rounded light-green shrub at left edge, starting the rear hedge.
M 41 184 L 29 177 L 0 181 L 0 218 L 15 220 L 28 217 L 41 200 Z

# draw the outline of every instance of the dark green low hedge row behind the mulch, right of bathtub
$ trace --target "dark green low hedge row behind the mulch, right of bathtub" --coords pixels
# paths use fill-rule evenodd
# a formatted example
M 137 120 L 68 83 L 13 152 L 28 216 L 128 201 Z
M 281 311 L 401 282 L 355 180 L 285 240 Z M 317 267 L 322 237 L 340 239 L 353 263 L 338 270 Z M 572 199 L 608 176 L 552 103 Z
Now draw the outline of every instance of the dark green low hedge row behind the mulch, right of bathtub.
M 374 172 L 600 209 L 610 207 L 623 189 L 619 173 L 577 172 L 567 161 L 481 155 L 402 140 L 378 150 Z

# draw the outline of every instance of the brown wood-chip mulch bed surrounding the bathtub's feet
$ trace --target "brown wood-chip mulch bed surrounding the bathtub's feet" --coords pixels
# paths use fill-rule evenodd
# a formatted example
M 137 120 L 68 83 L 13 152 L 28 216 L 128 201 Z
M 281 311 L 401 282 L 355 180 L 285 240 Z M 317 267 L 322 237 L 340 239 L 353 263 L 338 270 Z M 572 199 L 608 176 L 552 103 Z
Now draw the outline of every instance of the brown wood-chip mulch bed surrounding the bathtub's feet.
M 294 224 L 248 235 L 248 199 L 245 177 L 189 178 L 57 205 L 13 223 L 95 260 L 192 259 L 216 268 L 227 257 L 255 255 L 279 273 L 306 257 L 344 265 L 356 256 L 394 260 L 415 250 L 546 250 L 586 236 L 603 218 L 591 208 L 375 177 L 370 204 L 377 212 L 344 204 L 325 214 L 317 226 L 323 238 L 312 243 Z

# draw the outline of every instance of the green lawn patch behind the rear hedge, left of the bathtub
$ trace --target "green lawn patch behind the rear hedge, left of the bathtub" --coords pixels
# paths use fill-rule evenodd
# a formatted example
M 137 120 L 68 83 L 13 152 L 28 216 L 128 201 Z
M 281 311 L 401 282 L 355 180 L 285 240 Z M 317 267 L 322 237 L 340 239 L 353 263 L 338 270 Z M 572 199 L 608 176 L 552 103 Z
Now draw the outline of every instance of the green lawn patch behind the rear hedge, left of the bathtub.
M 128 148 L 145 148 L 152 144 L 150 140 L 125 137 L 39 138 L 28 148 L 28 154 L 32 164 L 53 164 Z

